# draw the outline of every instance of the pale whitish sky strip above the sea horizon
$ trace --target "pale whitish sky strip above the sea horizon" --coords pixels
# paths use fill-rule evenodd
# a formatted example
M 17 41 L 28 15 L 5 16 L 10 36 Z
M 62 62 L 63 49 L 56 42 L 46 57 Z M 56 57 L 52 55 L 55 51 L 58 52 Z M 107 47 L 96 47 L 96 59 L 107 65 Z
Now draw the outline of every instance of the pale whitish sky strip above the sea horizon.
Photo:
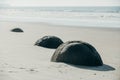
M 0 0 L 10 6 L 120 6 L 120 0 Z

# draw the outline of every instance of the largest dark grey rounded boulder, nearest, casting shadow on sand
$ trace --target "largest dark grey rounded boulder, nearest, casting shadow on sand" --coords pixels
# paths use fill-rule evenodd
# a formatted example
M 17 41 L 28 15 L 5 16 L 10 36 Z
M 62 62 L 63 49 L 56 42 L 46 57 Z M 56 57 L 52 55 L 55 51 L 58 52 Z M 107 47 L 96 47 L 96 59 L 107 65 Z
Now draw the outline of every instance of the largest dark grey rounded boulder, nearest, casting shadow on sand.
M 96 49 L 82 41 L 68 41 L 60 45 L 51 61 L 83 66 L 102 66 L 103 61 Z

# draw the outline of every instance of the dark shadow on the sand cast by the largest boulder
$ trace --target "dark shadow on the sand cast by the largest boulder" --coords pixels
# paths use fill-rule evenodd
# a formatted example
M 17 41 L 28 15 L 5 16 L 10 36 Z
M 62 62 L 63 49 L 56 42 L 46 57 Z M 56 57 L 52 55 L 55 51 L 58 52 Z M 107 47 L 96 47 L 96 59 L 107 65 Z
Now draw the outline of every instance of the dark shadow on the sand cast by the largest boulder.
M 68 64 L 70 66 L 73 67 L 77 67 L 77 68 L 82 68 L 82 69 L 88 69 L 88 70 L 95 70 L 95 71 L 114 71 L 115 68 L 112 66 L 109 66 L 107 64 L 103 64 L 102 66 L 79 66 L 79 65 L 72 65 L 72 64 Z

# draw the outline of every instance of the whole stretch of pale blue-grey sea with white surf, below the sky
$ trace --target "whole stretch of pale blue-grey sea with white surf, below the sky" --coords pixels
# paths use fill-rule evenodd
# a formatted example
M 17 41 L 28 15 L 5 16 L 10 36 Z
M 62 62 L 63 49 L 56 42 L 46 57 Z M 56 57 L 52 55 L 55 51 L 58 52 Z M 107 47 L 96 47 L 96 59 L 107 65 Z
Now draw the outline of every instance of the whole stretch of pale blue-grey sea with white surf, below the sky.
M 120 6 L 0 7 L 0 21 L 45 22 L 78 27 L 120 28 Z

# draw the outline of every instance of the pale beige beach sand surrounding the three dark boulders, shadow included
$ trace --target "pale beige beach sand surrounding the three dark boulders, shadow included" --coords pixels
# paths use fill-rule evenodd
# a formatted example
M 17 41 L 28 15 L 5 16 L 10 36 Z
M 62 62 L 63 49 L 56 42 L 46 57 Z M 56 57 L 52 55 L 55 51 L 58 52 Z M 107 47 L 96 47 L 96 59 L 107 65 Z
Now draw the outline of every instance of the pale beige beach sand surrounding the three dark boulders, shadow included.
M 19 27 L 24 33 L 10 30 Z M 64 42 L 92 44 L 104 62 L 100 67 L 50 62 L 55 49 L 34 46 L 45 35 Z M 78 28 L 45 23 L 0 22 L 0 80 L 120 80 L 120 29 Z

